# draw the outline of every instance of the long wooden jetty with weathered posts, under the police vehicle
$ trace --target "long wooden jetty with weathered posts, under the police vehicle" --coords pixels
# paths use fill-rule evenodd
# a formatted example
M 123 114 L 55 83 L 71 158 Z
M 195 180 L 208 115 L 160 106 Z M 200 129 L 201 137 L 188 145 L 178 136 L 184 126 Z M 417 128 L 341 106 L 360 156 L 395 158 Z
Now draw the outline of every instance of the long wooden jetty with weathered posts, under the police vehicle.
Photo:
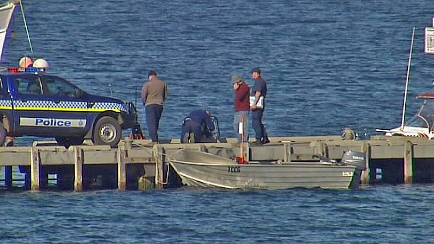
M 341 136 L 271 137 L 270 143 L 250 146 L 251 161 L 304 161 L 314 155 L 339 159 L 346 150 L 363 151 L 367 170 L 362 184 L 432 183 L 434 140 L 418 137 L 373 136 L 371 140 L 344 140 Z M 179 186 L 179 178 L 167 164 L 167 157 L 181 148 L 202 150 L 225 157 L 240 156 L 235 138 L 217 143 L 181 144 L 179 139 L 153 145 L 151 140 L 123 139 L 117 148 L 80 145 L 65 148 L 55 142 L 35 141 L 32 146 L 0 147 L 0 167 L 5 168 L 6 187 L 13 185 L 12 167 L 25 173 L 30 190 L 47 186 L 48 175 L 57 184 L 82 191 L 108 181 L 109 188 L 150 189 Z

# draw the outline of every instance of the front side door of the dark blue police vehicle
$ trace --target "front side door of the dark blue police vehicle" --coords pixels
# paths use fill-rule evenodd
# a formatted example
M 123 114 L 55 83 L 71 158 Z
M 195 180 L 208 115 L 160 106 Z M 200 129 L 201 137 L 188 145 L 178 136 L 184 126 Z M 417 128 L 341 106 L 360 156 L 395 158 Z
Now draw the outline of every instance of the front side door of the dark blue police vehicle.
M 52 135 L 55 137 L 83 137 L 90 129 L 88 102 L 83 91 L 67 80 L 41 75 L 42 88 L 49 107 Z M 51 121 L 52 120 L 52 121 Z

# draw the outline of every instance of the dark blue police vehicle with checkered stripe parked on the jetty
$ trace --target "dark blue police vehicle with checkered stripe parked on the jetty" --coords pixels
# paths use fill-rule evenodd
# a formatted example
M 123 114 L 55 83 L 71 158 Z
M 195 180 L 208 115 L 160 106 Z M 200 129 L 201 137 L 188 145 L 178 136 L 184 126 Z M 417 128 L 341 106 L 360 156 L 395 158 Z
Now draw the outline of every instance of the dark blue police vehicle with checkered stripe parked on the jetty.
M 6 70 L 5 70 L 6 71 Z M 55 137 L 60 145 L 115 147 L 122 129 L 137 127 L 132 103 L 88 94 L 44 68 L 0 72 L 0 145 L 8 136 Z

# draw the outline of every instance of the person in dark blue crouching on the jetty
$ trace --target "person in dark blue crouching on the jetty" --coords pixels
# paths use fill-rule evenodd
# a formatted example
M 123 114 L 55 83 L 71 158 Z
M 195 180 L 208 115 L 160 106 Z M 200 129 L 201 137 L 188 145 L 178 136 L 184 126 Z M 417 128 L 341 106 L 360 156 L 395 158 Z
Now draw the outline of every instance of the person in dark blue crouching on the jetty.
M 213 131 L 211 111 L 193 110 L 182 122 L 181 143 L 200 142 L 203 129 Z

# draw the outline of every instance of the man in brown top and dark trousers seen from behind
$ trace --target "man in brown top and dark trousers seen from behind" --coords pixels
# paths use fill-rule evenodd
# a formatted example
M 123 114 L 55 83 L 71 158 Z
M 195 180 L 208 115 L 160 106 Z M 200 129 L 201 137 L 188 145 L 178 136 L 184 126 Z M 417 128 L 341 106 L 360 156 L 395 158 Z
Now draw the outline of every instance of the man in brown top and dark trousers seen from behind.
M 157 143 L 157 131 L 161 113 L 163 112 L 163 103 L 167 99 L 167 84 L 157 78 L 155 70 L 149 71 L 148 77 L 149 81 L 144 83 L 141 88 L 141 100 L 146 111 L 149 136 L 153 143 Z

